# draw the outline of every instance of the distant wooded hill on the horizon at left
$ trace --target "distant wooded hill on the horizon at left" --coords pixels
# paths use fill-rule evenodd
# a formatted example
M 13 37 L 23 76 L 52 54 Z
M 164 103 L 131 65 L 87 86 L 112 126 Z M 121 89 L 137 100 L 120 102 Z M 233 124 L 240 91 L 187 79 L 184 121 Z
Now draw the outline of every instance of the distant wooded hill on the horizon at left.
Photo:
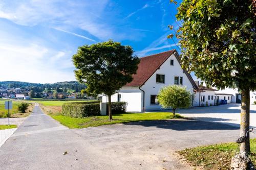
M 0 82 L 0 87 L 5 88 L 23 88 L 23 89 L 33 89 L 37 91 L 42 91 L 45 89 L 56 89 L 58 88 L 67 88 L 75 90 L 76 92 L 80 92 L 81 89 L 85 89 L 86 85 L 78 83 L 77 81 L 70 81 L 70 82 L 58 82 L 58 83 L 28 83 L 28 82 L 18 82 L 18 81 L 5 81 Z

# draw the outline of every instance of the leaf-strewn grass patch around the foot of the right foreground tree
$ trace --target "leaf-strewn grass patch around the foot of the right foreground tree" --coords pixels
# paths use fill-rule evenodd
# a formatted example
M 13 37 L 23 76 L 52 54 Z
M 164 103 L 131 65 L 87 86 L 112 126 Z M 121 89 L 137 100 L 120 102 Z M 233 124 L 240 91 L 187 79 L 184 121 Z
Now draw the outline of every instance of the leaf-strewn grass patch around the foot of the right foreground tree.
M 237 143 L 220 143 L 204 147 L 190 148 L 178 151 L 194 166 L 203 166 L 203 169 L 230 169 L 231 158 L 234 156 Z M 256 164 L 256 138 L 250 140 L 251 160 Z

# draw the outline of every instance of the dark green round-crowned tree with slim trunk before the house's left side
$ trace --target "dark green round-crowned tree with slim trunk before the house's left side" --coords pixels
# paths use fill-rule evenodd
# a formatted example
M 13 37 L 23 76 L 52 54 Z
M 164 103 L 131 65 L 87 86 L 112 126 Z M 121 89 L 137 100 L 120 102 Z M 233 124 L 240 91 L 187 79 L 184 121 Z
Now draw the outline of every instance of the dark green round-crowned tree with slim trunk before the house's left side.
M 80 46 L 73 56 L 76 79 L 86 83 L 92 93 L 108 95 L 110 119 L 111 95 L 133 80 L 139 62 L 131 46 L 112 40 Z

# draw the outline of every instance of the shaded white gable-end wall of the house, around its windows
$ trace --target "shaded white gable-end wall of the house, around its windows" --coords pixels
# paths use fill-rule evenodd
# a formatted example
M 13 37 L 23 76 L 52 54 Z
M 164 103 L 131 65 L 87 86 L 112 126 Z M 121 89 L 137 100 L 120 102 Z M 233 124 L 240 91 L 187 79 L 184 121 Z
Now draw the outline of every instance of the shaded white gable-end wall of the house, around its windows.
M 174 60 L 174 65 L 170 65 L 170 60 Z M 165 82 L 163 83 L 156 83 L 156 75 L 165 75 Z M 174 77 L 179 76 L 183 77 L 183 85 L 186 86 L 187 89 L 193 93 L 193 85 L 188 80 L 185 73 L 183 73 L 183 69 L 181 68 L 179 61 L 176 59 L 175 55 L 173 54 L 170 56 L 158 69 L 150 79 L 148 79 L 143 86 L 141 86 L 141 89 L 145 91 L 145 111 L 150 110 L 160 110 L 163 109 L 160 105 L 151 105 L 150 99 L 151 95 L 157 95 L 159 93 L 159 90 L 167 85 L 173 85 L 174 84 Z

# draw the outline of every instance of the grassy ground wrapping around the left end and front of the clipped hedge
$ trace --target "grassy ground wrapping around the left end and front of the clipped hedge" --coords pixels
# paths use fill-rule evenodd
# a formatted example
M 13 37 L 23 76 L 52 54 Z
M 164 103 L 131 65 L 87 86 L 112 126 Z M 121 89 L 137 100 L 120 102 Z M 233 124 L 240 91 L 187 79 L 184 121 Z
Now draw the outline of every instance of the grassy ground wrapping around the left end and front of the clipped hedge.
M 61 106 L 66 102 L 74 101 L 40 101 L 40 106 L 45 113 L 56 119 L 62 125 L 69 128 L 87 128 L 101 125 L 111 125 L 118 123 L 140 122 L 146 120 L 163 120 L 171 118 L 182 118 L 179 114 L 173 116 L 167 112 L 151 112 L 151 113 L 123 113 L 113 115 L 113 120 L 109 120 L 109 116 L 90 116 L 83 118 L 72 118 L 61 115 Z M 86 102 L 86 101 L 75 101 Z

